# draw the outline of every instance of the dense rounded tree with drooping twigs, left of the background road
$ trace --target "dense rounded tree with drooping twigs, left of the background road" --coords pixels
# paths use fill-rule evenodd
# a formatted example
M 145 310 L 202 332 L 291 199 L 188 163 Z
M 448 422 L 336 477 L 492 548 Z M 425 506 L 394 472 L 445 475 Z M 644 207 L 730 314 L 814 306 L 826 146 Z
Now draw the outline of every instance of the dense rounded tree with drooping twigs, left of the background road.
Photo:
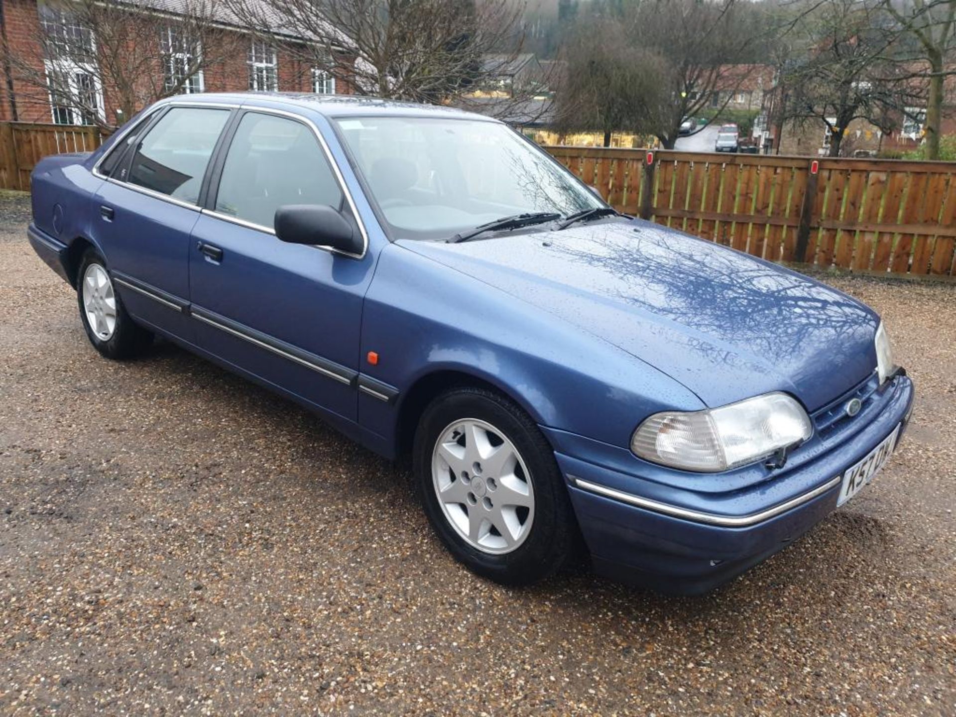
M 667 101 L 672 84 L 663 80 L 670 68 L 662 57 L 631 42 L 619 22 L 598 16 L 578 23 L 562 58 L 558 130 L 597 130 L 605 147 L 614 132 L 654 133 L 652 108 Z

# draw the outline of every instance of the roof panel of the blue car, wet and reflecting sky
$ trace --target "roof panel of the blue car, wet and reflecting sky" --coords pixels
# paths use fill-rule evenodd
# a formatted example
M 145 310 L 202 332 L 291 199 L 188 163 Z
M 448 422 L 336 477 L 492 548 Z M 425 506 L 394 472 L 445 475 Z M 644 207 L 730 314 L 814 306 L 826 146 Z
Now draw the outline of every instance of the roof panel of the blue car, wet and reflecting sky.
M 242 104 L 244 107 L 270 107 L 275 102 L 312 110 L 325 117 L 358 117 L 388 115 L 404 117 L 444 117 L 467 120 L 498 121 L 485 115 L 466 112 L 455 107 L 417 104 L 396 99 L 368 98 L 355 95 L 316 95 L 293 92 L 229 92 L 177 95 L 167 101 L 189 101 Z

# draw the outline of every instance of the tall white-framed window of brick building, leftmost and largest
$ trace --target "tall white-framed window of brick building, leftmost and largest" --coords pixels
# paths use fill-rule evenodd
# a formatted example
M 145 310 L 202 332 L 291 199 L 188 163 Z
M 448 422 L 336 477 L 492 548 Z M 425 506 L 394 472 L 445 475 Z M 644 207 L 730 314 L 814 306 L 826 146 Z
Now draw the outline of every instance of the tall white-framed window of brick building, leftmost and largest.
M 103 88 L 93 33 L 63 8 L 42 3 L 37 11 L 54 123 L 95 124 L 103 118 Z

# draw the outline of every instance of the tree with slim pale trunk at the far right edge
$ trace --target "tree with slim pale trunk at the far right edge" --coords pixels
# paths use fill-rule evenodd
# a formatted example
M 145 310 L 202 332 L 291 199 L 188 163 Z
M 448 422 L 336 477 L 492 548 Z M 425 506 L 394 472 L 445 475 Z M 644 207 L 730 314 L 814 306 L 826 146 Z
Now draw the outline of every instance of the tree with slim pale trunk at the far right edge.
M 956 0 L 881 0 L 881 7 L 915 39 L 916 52 L 900 50 L 895 59 L 907 79 L 924 80 L 926 87 L 926 159 L 940 159 L 945 77 L 956 74 L 946 57 L 956 49 Z

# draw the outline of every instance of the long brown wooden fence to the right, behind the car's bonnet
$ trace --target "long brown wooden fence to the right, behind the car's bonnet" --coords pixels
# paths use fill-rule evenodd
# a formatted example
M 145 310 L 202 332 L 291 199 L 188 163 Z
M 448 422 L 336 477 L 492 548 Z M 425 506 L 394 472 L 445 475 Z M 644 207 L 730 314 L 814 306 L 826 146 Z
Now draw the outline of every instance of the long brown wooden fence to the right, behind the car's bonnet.
M 547 149 L 619 211 L 771 261 L 956 275 L 956 163 Z

